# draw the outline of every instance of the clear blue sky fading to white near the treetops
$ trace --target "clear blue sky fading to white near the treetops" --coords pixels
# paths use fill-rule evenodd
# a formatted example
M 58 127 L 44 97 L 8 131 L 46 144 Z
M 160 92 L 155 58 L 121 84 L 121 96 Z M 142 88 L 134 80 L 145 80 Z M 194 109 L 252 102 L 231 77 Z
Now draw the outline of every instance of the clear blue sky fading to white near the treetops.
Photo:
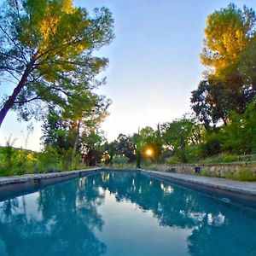
M 113 103 L 102 124 L 108 141 L 119 133 L 132 134 L 146 125 L 153 128 L 190 111 L 190 94 L 201 80 L 205 67 L 199 55 L 203 48 L 207 15 L 226 7 L 225 0 L 75 0 L 75 6 L 88 9 L 107 7 L 113 13 L 115 38 L 95 55 L 109 59 L 101 74 L 107 84 L 98 90 Z M 256 1 L 233 1 L 256 10 Z M 0 87 L 3 92 L 13 88 Z M 40 144 L 41 123 L 33 122 L 34 131 L 27 147 Z M 15 113 L 8 113 L 0 129 L 0 144 L 9 136 L 15 147 L 25 147 L 26 126 Z

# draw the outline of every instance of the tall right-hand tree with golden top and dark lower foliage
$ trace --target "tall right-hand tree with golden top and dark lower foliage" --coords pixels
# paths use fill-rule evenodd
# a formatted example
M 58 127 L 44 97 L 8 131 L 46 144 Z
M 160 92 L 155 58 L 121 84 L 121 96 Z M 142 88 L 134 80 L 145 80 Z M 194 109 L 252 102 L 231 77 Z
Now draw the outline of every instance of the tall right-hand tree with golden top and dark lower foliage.
M 247 7 L 230 3 L 207 17 L 201 54 L 207 76 L 191 97 L 191 107 L 207 130 L 219 120 L 227 125 L 231 111 L 243 113 L 253 101 L 255 32 L 256 15 Z

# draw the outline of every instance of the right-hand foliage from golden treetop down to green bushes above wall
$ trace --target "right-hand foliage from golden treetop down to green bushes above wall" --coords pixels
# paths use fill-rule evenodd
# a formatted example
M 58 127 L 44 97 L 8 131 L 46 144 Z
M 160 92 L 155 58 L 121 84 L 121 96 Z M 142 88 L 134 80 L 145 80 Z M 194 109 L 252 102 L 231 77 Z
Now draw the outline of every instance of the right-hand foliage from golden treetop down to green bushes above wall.
M 203 157 L 223 150 L 255 152 L 255 26 L 253 9 L 233 3 L 207 17 L 201 61 L 208 70 L 191 97 L 191 107 L 209 133 L 200 147 Z M 211 126 L 220 120 L 222 131 L 212 135 Z

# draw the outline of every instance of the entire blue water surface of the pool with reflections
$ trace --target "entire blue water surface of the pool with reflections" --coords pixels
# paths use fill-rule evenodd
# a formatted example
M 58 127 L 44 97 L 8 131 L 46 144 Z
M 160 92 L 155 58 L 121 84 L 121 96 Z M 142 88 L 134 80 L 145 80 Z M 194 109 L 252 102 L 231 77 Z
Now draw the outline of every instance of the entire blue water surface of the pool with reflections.
M 136 172 L 0 202 L 0 255 L 256 255 L 256 212 Z

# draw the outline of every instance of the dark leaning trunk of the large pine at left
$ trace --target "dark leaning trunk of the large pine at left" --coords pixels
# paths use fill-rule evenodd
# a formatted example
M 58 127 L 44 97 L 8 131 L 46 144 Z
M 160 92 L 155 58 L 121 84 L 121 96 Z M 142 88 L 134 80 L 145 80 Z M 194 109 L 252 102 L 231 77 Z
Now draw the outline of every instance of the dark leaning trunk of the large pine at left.
M 17 96 L 20 94 L 20 91 L 26 84 L 27 77 L 29 73 L 32 70 L 32 65 L 35 62 L 35 58 L 32 58 L 32 61 L 27 65 L 19 84 L 15 87 L 15 90 L 13 91 L 13 94 L 9 96 L 8 100 L 4 103 L 3 108 L 0 110 L 0 127 L 3 123 L 3 119 L 5 118 L 6 114 L 9 112 L 9 110 L 14 106 L 15 100 Z

